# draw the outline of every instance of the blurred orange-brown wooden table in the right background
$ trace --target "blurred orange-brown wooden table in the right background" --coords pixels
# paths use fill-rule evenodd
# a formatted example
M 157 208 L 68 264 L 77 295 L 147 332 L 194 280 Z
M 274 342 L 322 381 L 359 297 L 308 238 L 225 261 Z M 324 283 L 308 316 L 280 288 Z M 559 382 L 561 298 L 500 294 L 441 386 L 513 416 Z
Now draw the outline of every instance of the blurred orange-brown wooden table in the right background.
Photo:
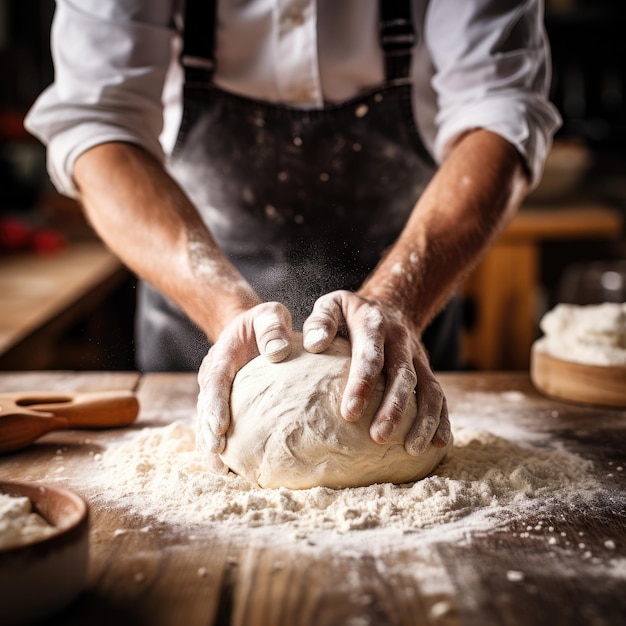
M 527 370 L 537 332 L 541 244 L 622 235 L 622 213 L 605 204 L 523 207 L 465 282 L 474 319 L 463 338 L 463 362 L 478 370 Z

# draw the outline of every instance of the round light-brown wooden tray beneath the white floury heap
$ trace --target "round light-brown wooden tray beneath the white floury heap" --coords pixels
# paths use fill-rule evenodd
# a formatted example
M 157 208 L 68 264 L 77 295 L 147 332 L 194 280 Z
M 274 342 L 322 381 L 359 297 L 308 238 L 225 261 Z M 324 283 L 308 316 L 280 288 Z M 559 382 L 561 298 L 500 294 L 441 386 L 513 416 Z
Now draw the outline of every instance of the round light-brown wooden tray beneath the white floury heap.
M 539 391 L 553 398 L 626 408 L 626 366 L 563 361 L 535 344 L 531 352 L 530 377 Z

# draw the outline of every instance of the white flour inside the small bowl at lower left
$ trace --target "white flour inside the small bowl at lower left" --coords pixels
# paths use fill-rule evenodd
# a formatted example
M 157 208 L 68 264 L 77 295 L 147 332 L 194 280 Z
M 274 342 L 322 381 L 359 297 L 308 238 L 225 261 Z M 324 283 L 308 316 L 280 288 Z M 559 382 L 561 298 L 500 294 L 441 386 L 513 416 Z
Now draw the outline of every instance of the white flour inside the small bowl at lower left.
M 0 550 L 39 541 L 55 528 L 33 511 L 29 498 L 0 493 Z

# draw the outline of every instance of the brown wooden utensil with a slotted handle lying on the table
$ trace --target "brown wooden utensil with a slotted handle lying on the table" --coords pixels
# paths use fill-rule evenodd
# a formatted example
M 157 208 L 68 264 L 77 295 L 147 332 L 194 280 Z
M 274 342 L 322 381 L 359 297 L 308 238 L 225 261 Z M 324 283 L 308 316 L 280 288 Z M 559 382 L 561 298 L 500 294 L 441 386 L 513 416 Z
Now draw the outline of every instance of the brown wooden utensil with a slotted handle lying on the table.
M 0 393 L 0 454 L 52 430 L 128 426 L 138 413 L 131 391 Z

